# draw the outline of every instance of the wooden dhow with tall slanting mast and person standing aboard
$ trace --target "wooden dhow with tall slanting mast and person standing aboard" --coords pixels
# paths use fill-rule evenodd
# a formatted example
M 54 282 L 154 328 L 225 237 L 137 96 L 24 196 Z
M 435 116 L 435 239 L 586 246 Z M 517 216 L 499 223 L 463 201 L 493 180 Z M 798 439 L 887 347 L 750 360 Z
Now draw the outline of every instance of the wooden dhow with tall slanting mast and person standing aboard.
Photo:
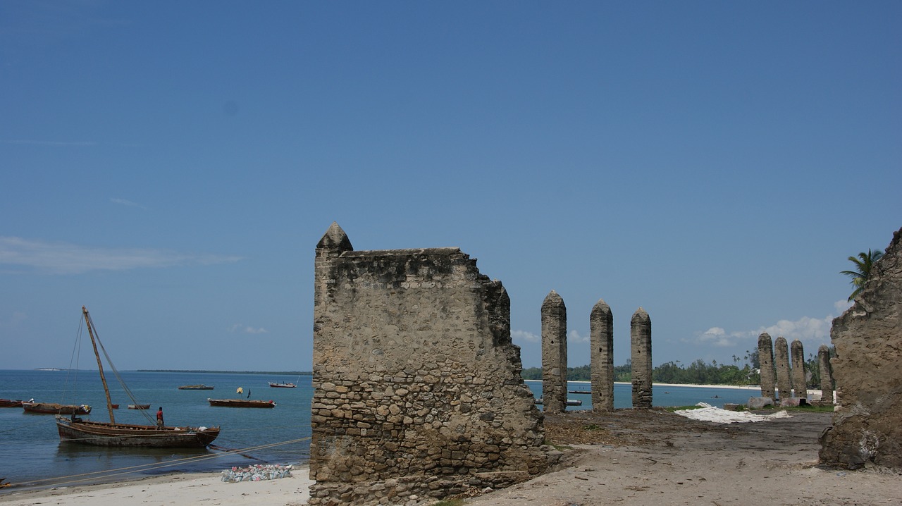
M 91 336 L 91 345 L 94 347 L 94 355 L 97 357 L 97 368 L 100 371 L 100 381 L 103 382 L 104 392 L 106 393 L 106 408 L 109 410 L 110 421 L 89 421 L 78 419 L 75 415 L 71 417 L 57 416 L 57 429 L 60 432 L 60 441 L 69 441 L 82 445 L 92 446 L 139 446 L 151 448 L 202 448 L 219 436 L 218 427 L 157 427 L 156 425 L 135 425 L 116 423 L 113 415 L 113 403 L 110 400 L 109 387 L 106 384 L 106 376 L 104 376 L 104 366 L 100 361 L 100 354 L 97 353 L 97 342 L 99 336 L 95 336 L 95 327 L 91 321 L 87 308 L 81 308 L 87 325 L 87 333 Z M 103 349 L 103 344 L 100 345 Z M 104 350 L 106 354 L 106 350 Z M 109 362 L 109 356 L 106 356 Z M 115 367 L 110 363 L 113 371 Z M 122 378 L 119 378 L 122 382 Z M 129 397 L 133 397 L 131 391 L 123 388 Z M 129 406 L 131 407 L 131 406 Z M 145 413 L 149 421 L 150 416 Z

